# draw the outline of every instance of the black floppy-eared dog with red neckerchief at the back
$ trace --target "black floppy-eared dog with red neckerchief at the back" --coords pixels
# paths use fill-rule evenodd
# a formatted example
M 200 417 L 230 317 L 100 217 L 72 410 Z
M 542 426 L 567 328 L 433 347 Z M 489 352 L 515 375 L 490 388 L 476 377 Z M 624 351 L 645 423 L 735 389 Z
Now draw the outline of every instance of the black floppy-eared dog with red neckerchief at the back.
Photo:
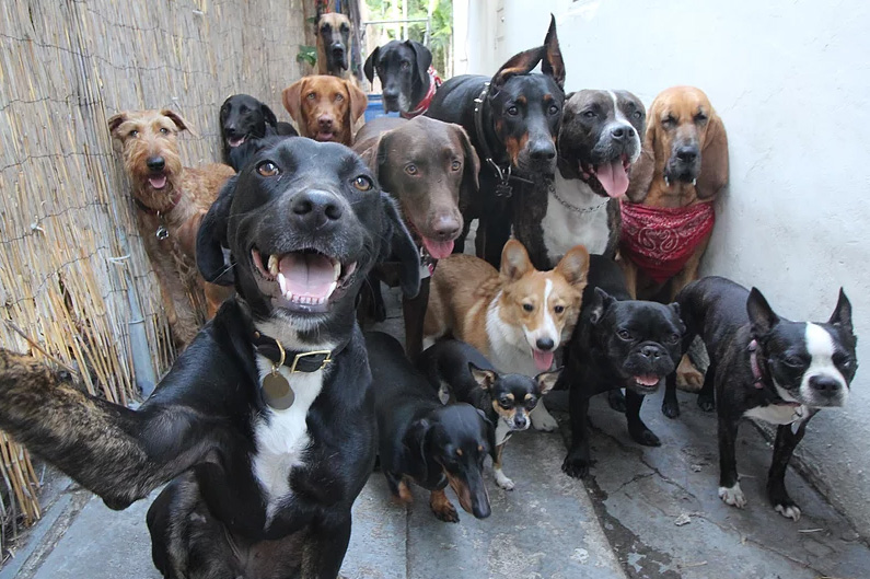
M 375 46 L 362 66 L 366 78 L 381 80 L 384 112 L 414 118 L 429 109 L 441 79 L 432 69 L 432 53 L 417 40 L 391 40 Z

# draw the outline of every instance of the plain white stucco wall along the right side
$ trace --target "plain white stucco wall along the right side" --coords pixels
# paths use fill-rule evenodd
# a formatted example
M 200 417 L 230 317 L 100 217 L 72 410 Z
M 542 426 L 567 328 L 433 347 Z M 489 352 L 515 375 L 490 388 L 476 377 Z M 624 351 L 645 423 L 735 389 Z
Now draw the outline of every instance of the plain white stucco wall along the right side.
M 543 43 L 553 12 L 569 91 L 627 89 L 649 106 L 668 86 L 701 88 L 731 161 L 703 274 L 757 286 L 792 320 L 827 320 L 845 287 L 870 366 L 870 2 L 455 0 L 465 2 L 457 73 L 490 74 Z M 798 449 L 863 536 L 869 375 L 858 370 L 848 406 L 815 417 Z

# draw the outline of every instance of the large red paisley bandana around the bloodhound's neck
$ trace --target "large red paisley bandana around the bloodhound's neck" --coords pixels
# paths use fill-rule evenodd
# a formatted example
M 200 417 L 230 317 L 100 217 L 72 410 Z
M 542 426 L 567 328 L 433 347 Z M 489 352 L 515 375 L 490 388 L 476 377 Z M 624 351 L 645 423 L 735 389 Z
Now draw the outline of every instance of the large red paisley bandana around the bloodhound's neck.
M 711 204 L 659 208 L 622 202 L 619 248 L 656 282 L 674 277 L 712 231 Z

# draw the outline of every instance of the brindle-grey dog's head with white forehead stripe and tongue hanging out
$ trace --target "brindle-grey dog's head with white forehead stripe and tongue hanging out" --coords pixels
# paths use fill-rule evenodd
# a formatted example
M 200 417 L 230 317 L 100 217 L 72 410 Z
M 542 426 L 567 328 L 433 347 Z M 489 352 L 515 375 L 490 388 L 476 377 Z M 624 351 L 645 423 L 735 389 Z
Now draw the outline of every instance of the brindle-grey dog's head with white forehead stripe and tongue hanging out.
M 628 172 L 640 157 L 646 109 L 628 91 L 579 91 L 565 103 L 559 163 L 566 177 L 589 183 L 603 197 L 628 189 Z

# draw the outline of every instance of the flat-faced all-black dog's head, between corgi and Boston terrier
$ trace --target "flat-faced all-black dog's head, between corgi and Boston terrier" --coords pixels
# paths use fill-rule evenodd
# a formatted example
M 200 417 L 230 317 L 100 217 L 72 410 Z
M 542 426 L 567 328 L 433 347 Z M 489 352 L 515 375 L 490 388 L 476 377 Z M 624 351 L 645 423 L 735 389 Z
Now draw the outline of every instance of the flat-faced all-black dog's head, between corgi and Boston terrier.
M 680 362 L 686 327 L 676 303 L 617 301 L 595 288 L 587 315 L 593 347 L 606 357 L 623 386 L 652 394 Z

